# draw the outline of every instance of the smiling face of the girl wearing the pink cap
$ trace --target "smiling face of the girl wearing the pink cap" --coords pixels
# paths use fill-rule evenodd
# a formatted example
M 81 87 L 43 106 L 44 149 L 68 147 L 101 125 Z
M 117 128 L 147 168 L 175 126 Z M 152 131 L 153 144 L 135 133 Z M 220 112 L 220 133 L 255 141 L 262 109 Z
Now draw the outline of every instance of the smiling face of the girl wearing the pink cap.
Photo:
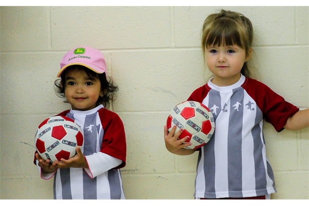
M 103 95 L 100 80 L 96 77 L 90 79 L 84 70 L 77 68 L 66 71 L 64 84 L 65 97 L 74 110 L 95 108 L 99 96 Z

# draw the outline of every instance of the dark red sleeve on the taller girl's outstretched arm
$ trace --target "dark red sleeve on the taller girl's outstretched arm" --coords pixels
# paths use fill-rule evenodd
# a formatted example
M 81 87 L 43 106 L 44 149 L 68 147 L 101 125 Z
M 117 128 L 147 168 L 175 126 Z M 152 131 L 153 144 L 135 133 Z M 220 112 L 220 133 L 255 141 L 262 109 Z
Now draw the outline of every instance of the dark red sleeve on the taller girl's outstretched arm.
M 247 78 L 243 88 L 257 103 L 263 113 L 263 118 L 280 132 L 284 129 L 289 117 L 298 112 L 299 108 L 285 101 L 265 84 Z M 257 89 L 252 89 L 257 88 Z

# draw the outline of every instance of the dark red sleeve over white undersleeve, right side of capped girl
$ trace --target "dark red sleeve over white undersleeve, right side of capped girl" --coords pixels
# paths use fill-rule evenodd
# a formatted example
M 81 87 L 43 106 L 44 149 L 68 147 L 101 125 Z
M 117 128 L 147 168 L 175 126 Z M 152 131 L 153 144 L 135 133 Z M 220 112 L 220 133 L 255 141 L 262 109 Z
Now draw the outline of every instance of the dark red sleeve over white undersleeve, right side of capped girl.
M 114 169 L 123 168 L 126 166 L 127 155 L 124 124 L 118 114 L 106 108 L 99 110 L 99 116 L 104 130 L 100 152 L 122 160 L 122 164 Z

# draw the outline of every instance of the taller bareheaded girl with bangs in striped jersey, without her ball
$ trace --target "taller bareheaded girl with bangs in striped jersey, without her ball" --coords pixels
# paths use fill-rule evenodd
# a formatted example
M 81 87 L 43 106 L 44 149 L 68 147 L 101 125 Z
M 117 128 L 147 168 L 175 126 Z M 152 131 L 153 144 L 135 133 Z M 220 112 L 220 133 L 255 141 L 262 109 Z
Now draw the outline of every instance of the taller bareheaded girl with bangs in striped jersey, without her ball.
M 215 118 L 215 132 L 199 148 L 195 199 L 270 199 L 276 193 L 266 157 L 263 120 L 280 132 L 309 126 L 309 110 L 299 110 L 261 82 L 251 79 L 248 60 L 253 52 L 253 28 L 244 15 L 221 10 L 204 21 L 202 50 L 213 77 L 188 101 L 205 104 Z M 214 106 L 216 105 L 216 106 Z M 164 126 L 167 150 L 189 155 L 189 137 L 178 140 L 175 127 Z

